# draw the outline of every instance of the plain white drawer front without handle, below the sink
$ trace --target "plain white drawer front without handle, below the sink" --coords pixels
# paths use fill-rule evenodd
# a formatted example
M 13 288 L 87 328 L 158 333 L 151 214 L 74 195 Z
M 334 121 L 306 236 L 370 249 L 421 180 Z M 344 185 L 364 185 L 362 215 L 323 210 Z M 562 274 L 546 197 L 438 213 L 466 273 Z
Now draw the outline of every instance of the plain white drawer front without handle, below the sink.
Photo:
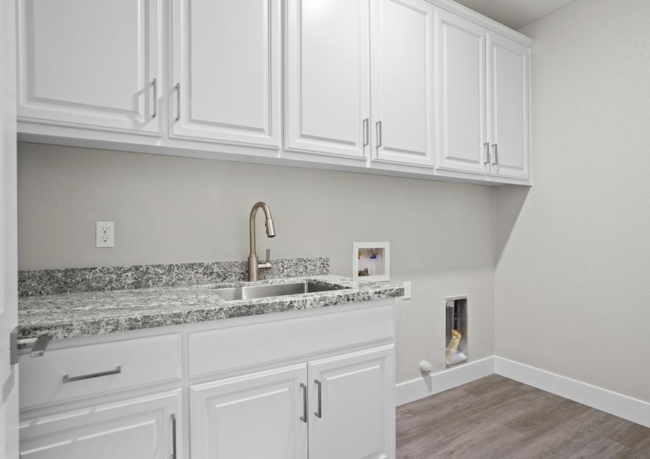
M 350 307 L 350 306 L 344 306 Z M 305 311 L 303 311 L 305 312 Z M 395 336 L 393 304 L 187 334 L 189 378 L 309 356 Z

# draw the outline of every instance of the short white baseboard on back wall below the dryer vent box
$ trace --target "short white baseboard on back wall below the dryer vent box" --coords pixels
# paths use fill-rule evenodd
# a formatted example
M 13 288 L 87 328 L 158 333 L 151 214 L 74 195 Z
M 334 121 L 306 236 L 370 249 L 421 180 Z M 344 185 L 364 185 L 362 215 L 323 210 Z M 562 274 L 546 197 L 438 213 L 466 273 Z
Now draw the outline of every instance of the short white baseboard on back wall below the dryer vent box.
M 398 383 L 395 392 L 396 405 L 403 405 L 435 393 L 462 386 L 484 376 L 489 376 L 494 372 L 495 358 L 485 357 L 485 359 L 454 366 L 454 368 L 439 371 L 438 373 L 427 374 L 422 378 Z

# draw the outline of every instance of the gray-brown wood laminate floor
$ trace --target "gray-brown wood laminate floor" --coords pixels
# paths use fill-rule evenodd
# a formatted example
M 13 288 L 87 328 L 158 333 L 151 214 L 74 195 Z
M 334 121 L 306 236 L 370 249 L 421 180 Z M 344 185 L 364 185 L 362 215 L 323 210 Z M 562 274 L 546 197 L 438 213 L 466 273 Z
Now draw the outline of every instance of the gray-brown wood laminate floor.
M 650 429 L 493 374 L 397 407 L 397 457 L 650 458 Z

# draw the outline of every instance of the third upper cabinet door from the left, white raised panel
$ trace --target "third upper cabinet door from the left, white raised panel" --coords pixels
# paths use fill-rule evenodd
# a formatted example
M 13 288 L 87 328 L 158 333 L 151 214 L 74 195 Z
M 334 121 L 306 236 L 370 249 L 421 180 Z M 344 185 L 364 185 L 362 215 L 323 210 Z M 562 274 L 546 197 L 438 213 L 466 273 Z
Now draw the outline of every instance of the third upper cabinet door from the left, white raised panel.
M 288 0 L 288 150 L 365 157 L 369 0 Z

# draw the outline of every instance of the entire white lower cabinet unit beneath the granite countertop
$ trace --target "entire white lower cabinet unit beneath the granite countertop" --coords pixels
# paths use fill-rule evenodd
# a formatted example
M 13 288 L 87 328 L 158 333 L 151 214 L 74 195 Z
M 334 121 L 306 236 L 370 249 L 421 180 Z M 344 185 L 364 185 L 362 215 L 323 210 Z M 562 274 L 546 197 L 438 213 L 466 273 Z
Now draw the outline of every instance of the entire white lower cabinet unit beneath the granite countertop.
M 392 299 L 53 340 L 20 359 L 20 454 L 394 458 L 394 341 Z

